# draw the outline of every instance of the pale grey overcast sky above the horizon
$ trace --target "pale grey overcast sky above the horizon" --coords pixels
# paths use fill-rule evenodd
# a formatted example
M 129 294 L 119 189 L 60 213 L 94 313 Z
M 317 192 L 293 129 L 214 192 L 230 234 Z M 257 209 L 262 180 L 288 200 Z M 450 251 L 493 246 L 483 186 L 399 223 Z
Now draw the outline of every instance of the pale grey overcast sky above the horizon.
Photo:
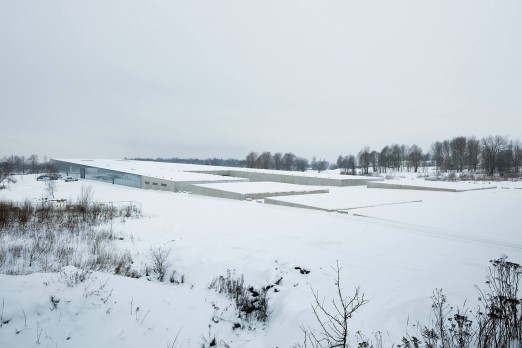
M 0 156 L 522 136 L 522 1 L 0 2 Z

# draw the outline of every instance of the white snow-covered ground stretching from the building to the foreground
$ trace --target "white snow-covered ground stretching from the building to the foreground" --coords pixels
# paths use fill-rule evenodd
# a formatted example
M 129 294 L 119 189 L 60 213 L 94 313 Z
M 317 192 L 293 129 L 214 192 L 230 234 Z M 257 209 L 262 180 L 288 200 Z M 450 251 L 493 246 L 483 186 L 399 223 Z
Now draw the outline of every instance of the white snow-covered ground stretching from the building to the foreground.
M 435 288 L 443 288 L 452 304 L 467 299 L 472 306 L 489 260 L 506 254 L 522 262 L 518 183 L 458 193 L 330 188 L 330 201 L 317 203 L 376 206 L 349 214 L 85 180 L 57 182 L 55 197 L 73 200 L 82 186 L 92 187 L 97 201 L 140 202 L 143 218 L 115 224 L 124 236 L 116 247 L 130 252 L 137 269 L 151 262 L 151 249 L 170 250 L 168 274 L 175 270 L 184 283 L 100 272 L 80 281 L 82 271 L 72 267 L 2 274 L 0 347 L 200 347 L 214 336 L 230 347 L 291 347 L 302 340 L 300 326 L 317 327 L 311 288 L 327 302 L 335 296 L 336 262 L 346 294 L 360 286 L 369 300 L 352 319 L 351 332 L 381 331 L 397 343 L 408 320 L 410 330 L 412 322 L 428 321 Z M 18 177 L 0 191 L 2 200 L 45 195 L 45 183 L 35 176 Z M 403 201 L 420 202 L 380 205 Z M 282 278 L 270 289 L 266 324 L 233 329 L 230 300 L 208 288 L 227 270 L 256 287 Z

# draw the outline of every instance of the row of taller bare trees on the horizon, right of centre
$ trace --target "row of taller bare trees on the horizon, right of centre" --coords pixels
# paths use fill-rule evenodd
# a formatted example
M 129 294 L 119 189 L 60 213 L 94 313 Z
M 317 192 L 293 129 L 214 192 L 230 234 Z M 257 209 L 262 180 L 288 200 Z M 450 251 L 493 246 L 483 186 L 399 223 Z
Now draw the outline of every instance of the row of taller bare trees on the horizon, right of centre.
M 458 136 L 436 141 L 428 151 L 416 144 L 384 146 L 380 151 L 363 147 L 357 155 L 339 155 L 336 163 L 329 163 L 314 157 L 311 162 L 294 155 L 268 151 L 250 152 L 245 158 L 247 168 L 323 171 L 341 169 L 343 174 L 386 173 L 389 169 L 412 170 L 419 167 L 436 167 L 438 171 L 482 173 L 485 175 L 519 177 L 522 165 L 522 144 L 520 140 L 510 140 L 505 136 L 488 136 L 477 139 L 473 136 Z

